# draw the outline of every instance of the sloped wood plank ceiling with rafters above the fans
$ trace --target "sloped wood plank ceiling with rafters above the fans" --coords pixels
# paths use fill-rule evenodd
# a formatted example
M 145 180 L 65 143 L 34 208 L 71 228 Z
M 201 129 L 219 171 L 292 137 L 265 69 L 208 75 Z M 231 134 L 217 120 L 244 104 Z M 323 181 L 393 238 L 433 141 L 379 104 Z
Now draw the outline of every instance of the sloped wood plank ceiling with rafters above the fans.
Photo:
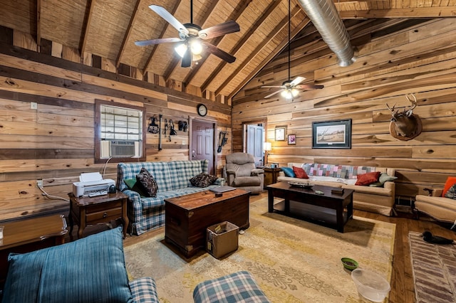
M 0 26 L 61 43 L 102 58 L 177 80 L 201 92 L 232 97 L 256 75 L 288 42 L 288 1 L 193 1 L 193 23 L 207 28 L 229 20 L 239 23 L 241 31 L 212 38 L 209 42 L 234 55 L 225 63 L 206 55 L 191 68 L 181 68 L 172 43 L 135 46 L 138 40 L 177 37 L 177 31 L 148 6 L 163 6 L 181 23 L 190 23 L 188 0 L 0 0 Z M 336 1 L 344 19 L 423 18 L 456 16 L 456 0 Z M 306 31 L 309 18 L 297 0 L 291 1 L 291 35 Z

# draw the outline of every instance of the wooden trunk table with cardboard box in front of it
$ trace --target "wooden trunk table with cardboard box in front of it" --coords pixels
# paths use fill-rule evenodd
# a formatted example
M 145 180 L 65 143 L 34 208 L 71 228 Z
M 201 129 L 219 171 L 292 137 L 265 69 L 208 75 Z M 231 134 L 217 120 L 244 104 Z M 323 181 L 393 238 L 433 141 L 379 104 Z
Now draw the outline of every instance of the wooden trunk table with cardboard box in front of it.
M 191 257 L 204 248 L 208 226 L 229 221 L 239 229 L 249 228 L 249 195 L 237 188 L 221 197 L 202 191 L 165 199 L 165 241 Z

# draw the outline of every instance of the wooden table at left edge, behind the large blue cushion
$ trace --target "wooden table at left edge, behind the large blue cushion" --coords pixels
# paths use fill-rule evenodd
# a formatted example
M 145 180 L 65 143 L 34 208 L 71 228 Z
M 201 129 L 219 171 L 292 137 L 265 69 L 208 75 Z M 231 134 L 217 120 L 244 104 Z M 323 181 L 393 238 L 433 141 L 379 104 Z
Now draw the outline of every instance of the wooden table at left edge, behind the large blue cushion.
M 63 244 L 66 220 L 63 215 L 45 216 L 0 223 L 4 238 L 0 240 L 0 285 L 8 272 L 10 252 L 25 253 Z

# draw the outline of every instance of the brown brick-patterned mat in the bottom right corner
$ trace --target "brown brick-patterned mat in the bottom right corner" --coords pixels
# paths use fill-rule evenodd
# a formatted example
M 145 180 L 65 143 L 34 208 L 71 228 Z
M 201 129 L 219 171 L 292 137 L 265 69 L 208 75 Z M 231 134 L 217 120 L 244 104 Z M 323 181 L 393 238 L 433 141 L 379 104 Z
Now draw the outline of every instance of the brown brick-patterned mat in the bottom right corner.
M 456 302 L 456 246 L 425 242 L 408 233 L 416 302 Z

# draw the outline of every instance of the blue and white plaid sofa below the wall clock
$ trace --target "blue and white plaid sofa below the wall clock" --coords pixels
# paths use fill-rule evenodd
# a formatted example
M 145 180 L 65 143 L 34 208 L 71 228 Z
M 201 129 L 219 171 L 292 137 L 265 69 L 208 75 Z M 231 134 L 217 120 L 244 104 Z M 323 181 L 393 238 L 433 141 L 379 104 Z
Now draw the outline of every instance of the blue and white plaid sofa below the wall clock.
M 124 180 L 135 179 L 141 168 L 144 167 L 157 181 L 157 196 L 154 198 L 140 196 L 130 190 Z M 134 235 L 141 235 L 165 225 L 165 198 L 183 196 L 188 193 L 206 191 L 217 186 L 209 185 L 206 188 L 192 186 L 190 179 L 200 173 L 207 173 L 209 161 L 158 161 L 158 162 L 131 162 L 119 163 L 117 169 L 117 188 L 130 197 L 128 203 L 129 230 Z M 219 178 L 214 184 L 224 180 Z

